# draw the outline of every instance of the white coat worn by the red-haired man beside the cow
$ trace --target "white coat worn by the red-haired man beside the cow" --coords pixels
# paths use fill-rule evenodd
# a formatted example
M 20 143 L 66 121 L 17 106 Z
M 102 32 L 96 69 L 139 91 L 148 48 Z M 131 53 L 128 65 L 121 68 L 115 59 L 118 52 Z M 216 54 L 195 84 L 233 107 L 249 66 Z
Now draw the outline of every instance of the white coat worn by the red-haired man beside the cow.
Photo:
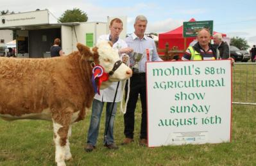
M 99 36 L 97 42 L 102 41 L 102 40 L 109 41 L 109 35 L 110 34 L 103 34 L 103 35 Z M 126 47 L 128 47 L 128 45 L 121 38 L 119 38 L 113 45 L 113 48 L 117 51 L 119 49 L 123 49 L 123 48 L 126 48 Z M 121 55 L 119 55 L 119 56 L 120 56 L 120 59 L 121 59 Z M 117 87 L 117 82 L 112 82 L 112 84 L 109 87 L 107 87 L 106 89 L 100 89 L 99 90 L 100 95 L 98 93 L 96 93 L 95 96 L 94 96 L 94 99 L 99 100 L 101 102 L 113 102 L 116 87 Z M 120 82 L 118 90 L 117 90 L 117 96 L 115 98 L 115 102 L 121 102 L 121 87 L 122 87 L 122 84 Z

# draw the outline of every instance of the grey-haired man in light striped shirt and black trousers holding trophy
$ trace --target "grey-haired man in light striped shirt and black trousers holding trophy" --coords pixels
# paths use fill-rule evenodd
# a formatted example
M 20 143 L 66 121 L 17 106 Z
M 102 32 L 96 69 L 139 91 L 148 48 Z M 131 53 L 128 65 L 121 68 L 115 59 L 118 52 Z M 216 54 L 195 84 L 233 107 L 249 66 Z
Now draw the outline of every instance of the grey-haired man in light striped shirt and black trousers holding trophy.
M 133 52 L 143 54 L 141 61 L 139 61 L 139 72 L 133 72 L 130 78 L 130 94 L 128 98 L 128 103 L 126 107 L 126 113 L 124 114 L 124 144 L 130 144 L 133 142 L 134 135 L 134 122 L 135 122 L 135 109 L 138 97 L 141 97 L 141 135 L 139 143 L 141 145 L 148 144 L 147 140 L 147 108 L 146 108 L 146 61 L 162 61 L 157 54 L 157 48 L 155 46 L 155 41 L 149 38 L 144 33 L 148 20 L 143 15 L 139 15 L 135 19 L 134 23 L 134 33 L 128 36 L 125 41 L 128 47 L 133 48 Z M 132 59 L 132 54 L 130 56 L 130 64 L 134 64 Z M 126 87 L 127 96 L 127 87 Z

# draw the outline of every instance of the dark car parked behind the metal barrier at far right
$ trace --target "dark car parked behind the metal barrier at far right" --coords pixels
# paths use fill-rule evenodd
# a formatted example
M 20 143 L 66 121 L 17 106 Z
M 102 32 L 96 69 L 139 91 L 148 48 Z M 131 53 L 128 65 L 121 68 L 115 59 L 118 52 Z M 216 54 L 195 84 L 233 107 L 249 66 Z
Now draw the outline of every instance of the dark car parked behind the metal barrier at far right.
M 250 54 L 246 50 L 240 50 L 235 46 L 230 45 L 229 47 L 230 50 L 230 57 L 232 57 L 235 62 L 236 61 L 242 61 L 242 62 L 247 62 L 250 60 Z

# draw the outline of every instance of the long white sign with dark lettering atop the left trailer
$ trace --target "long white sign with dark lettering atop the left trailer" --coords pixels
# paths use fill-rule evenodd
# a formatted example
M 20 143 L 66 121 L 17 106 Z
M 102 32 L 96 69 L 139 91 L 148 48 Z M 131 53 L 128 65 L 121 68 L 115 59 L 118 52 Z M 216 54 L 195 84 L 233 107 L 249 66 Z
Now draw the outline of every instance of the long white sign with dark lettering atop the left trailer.
M 0 15 L 0 27 L 49 24 L 48 10 Z

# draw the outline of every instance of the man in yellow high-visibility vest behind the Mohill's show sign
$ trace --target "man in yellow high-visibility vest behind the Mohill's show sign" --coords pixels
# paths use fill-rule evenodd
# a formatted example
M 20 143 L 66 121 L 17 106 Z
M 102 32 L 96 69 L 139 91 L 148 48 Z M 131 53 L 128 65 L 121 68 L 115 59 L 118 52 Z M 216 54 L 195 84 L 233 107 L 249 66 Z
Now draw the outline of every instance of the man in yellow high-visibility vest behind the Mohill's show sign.
M 196 36 L 198 42 L 194 46 L 189 46 L 182 57 L 183 61 L 200 61 L 218 59 L 216 48 L 210 43 L 209 29 L 201 29 Z

